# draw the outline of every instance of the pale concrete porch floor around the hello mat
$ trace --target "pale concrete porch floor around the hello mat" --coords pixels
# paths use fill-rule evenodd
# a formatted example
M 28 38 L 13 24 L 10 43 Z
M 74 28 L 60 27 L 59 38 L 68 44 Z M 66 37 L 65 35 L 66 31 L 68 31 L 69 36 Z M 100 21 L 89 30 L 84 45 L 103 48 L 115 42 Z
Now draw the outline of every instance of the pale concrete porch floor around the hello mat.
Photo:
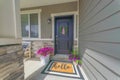
M 62 57 L 62 55 L 57 55 L 57 56 L 54 56 L 53 59 L 54 60 L 60 59 L 58 58 L 58 56 Z M 64 57 L 62 60 L 67 58 L 67 55 L 66 56 L 63 55 L 63 56 Z M 56 79 L 57 80 L 83 80 L 83 79 L 75 79 L 75 78 L 61 77 L 61 76 L 55 76 L 55 75 L 41 74 L 41 71 L 44 69 L 44 67 L 45 66 L 40 64 L 40 60 L 38 58 L 24 60 L 25 80 L 56 80 Z

